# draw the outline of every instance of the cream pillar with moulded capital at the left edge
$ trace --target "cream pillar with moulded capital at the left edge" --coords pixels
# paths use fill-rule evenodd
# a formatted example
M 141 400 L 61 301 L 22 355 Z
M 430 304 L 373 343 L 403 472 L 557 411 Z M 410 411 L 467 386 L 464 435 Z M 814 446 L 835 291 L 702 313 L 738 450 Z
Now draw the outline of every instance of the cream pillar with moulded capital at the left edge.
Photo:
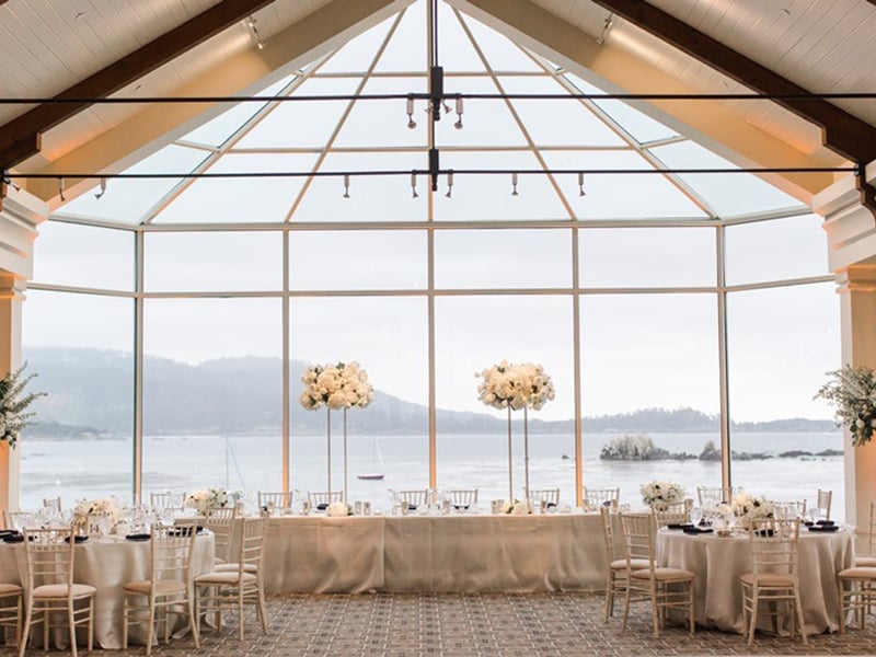
M 0 207 L 0 377 L 21 365 L 24 289 L 33 276 L 36 227 L 48 206 L 35 196 L 7 187 Z M 20 448 L 0 442 L 0 511 L 19 508 Z

